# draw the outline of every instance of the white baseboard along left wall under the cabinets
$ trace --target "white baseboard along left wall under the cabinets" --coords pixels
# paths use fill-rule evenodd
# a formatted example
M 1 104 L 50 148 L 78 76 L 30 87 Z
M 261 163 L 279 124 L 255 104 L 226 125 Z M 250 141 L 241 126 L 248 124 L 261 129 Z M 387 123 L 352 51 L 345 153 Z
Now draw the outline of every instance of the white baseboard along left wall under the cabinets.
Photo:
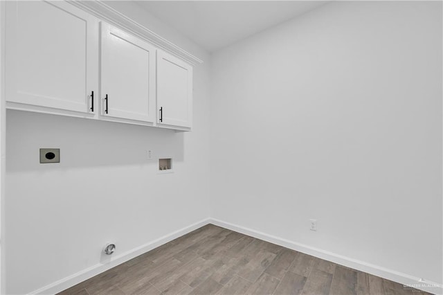
M 92 278 L 93 276 L 96 276 L 103 271 L 107 271 L 108 269 L 111 269 L 112 267 L 116 267 L 117 265 L 122 264 L 123 262 L 126 262 L 128 260 L 131 260 L 132 258 L 135 258 L 143 253 L 146 253 L 147 251 L 150 251 L 156 247 L 161 246 L 162 244 L 165 244 L 167 242 L 170 242 L 174 239 L 177 239 L 181 237 L 182 235 L 186 235 L 186 233 L 190 233 L 191 231 L 194 231 L 195 229 L 199 229 L 201 226 L 205 226 L 206 224 L 210 223 L 210 219 L 206 218 L 205 220 L 201 220 L 199 222 L 196 222 L 195 224 L 191 224 L 189 226 L 184 227 L 183 229 L 179 229 L 178 231 L 174 231 L 172 233 L 169 233 L 168 235 L 164 235 L 163 237 L 154 240 L 152 242 L 148 242 L 146 244 L 141 245 L 140 247 L 134 248 L 132 250 L 126 251 L 125 253 L 122 253 L 110 260 L 109 262 L 102 264 L 98 263 L 96 265 L 93 265 L 92 267 L 89 267 L 87 269 L 83 269 L 82 271 L 79 271 L 76 274 L 73 274 L 71 276 L 67 276 L 66 278 L 62 278 L 61 280 L 57 280 L 54 283 L 51 283 L 49 285 L 46 285 L 40 289 L 35 290 L 34 292 L 31 292 L 30 294 L 56 294 L 58 292 L 62 292 L 64 289 L 68 289 L 69 287 L 72 287 L 74 285 L 77 285 L 78 283 L 81 283 L 84 280 L 87 280 L 88 278 Z

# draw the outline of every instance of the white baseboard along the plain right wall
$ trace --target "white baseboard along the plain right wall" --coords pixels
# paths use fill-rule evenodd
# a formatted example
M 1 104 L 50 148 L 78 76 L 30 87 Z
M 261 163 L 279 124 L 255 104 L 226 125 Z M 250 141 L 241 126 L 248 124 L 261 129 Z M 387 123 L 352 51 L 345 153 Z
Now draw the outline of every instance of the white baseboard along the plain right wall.
M 408 274 L 403 274 L 399 271 L 394 271 L 392 269 L 386 269 L 385 267 L 380 267 L 378 265 L 372 265 L 368 262 L 361 260 L 356 260 L 346 256 L 341 256 L 336 253 L 325 251 L 323 249 L 318 249 L 314 247 L 307 246 L 305 244 L 300 244 L 298 242 L 293 242 L 283 238 L 276 237 L 275 235 L 269 235 L 267 233 L 262 233 L 260 231 L 255 231 L 253 229 L 248 229 L 244 226 L 239 226 L 236 224 L 231 224 L 229 222 L 224 222 L 211 218 L 209 223 L 215 224 L 217 226 L 230 229 L 232 231 L 237 231 L 245 235 L 250 235 L 251 237 L 264 240 L 266 242 L 271 242 L 273 244 L 278 244 L 282 247 L 293 249 L 302 253 L 309 254 L 324 260 L 335 262 L 338 265 L 344 265 L 345 267 L 350 267 L 352 269 L 357 269 L 359 271 L 367 272 L 374 276 L 379 276 L 381 278 L 386 278 L 387 280 L 392 280 L 394 282 L 415 287 L 416 289 L 421 289 L 423 291 L 432 294 L 443 294 L 443 286 L 441 284 L 431 282 L 431 281 L 420 281 L 420 278 L 415 276 L 410 276 Z

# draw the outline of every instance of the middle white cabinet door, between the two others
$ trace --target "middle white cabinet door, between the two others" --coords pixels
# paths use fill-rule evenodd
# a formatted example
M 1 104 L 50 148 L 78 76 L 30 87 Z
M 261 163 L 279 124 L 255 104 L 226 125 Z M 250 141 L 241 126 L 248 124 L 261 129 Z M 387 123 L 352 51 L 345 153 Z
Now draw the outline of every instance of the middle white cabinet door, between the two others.
M 101 23 L 102 115 L 154 123 L 156 48 Z

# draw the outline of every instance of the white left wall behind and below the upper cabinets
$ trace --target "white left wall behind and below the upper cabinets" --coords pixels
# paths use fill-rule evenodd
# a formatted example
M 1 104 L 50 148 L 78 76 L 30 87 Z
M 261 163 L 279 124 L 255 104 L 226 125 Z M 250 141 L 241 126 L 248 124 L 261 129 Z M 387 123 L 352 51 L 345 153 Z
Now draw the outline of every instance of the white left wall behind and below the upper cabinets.
M 149 28 L 131 5 L 125 14 Z M 7 294 L 98 265 L 106 242 L 119 255 L 209 217 L 208 54 L 165 25 L 156 33 L 205 61 L 194 70 L 192 132 L 8 111 Z M 61 163 L 40 164 L 40 147 L 60 147 Z M 174 173 L 158 175 L 148 149 L 172 157 Z

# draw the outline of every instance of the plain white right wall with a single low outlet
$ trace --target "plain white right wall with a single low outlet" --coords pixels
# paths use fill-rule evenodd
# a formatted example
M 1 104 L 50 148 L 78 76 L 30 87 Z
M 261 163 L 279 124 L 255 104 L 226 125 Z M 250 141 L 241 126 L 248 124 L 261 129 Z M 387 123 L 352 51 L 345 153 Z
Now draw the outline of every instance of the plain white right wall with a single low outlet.
M 442 283 L 442 3 L 328 3 L 212 62 L 212 217 Z

